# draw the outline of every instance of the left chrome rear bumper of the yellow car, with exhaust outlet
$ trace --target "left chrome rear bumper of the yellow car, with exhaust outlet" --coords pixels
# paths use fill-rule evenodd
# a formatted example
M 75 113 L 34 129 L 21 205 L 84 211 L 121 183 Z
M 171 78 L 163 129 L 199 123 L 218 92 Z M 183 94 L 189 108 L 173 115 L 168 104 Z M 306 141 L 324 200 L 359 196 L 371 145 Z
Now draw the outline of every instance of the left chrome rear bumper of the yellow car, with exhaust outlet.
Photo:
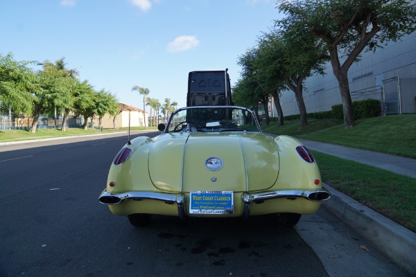
M 127 199 L 132 199 L 132 200 L 151 199 L 151 200 L 163 201 L 163 202 L 166 202 L 166 204 L 173 204 L 175 202 L 177 202 L 177 204 L 180 204 L 180 203 L 184 204 L 185 197 L 182 193 L 180 193 L 180 195 L 167 195 L 164 193 L 150 193 L 150 192 L 138 192 L 138 191 L 132 191 L 128 193 L 119 193 L 116 195 L 107 193 L 107 191 L 103 191 L 100 197 L 98 197 L 98 200 L 102 204 L 107 204 L 107 205 L 120 204 L 121 202 Z

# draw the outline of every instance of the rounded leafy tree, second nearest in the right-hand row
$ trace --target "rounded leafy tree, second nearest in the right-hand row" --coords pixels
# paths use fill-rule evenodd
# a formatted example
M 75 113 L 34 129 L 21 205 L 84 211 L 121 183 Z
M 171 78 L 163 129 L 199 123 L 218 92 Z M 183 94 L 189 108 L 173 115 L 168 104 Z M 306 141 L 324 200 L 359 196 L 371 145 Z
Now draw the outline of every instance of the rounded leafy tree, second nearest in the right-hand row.
M 302 127 L 308 124 L 303 98 L 304 80 L 313 73 L 323 74 L 323 65 L 328 58 L 323 44 L 317 40 L 302 28 L 286 26 L 284 30 L 272 30 L 259 39 L 259 55 L 254 62 L 259 75 L 263 76 L 263 84 L 281 89 L 283 81 L 295 93 Z

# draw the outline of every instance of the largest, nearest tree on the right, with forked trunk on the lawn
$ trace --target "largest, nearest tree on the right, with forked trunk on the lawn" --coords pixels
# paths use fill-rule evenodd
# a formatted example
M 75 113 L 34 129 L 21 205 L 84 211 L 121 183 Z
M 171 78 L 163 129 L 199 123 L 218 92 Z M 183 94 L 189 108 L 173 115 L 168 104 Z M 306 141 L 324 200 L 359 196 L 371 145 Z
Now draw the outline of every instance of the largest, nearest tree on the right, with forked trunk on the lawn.
M 416 28 L 416 3 L 407 0 L 278 0 L 288 17 L 279 26 L 295 26 L 322 39 L 343 100 L 344 126 L 353 127 L 348 70 L 358 55 L 397 41 Z

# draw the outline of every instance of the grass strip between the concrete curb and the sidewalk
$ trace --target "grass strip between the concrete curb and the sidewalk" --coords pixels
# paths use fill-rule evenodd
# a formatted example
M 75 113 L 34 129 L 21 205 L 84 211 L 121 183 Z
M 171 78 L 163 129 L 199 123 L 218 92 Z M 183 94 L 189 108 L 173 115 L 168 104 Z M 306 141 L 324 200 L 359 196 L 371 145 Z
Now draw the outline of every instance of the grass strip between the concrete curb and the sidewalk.
M 416 179 L 312 152 L 324 183 L 416 232 Z

